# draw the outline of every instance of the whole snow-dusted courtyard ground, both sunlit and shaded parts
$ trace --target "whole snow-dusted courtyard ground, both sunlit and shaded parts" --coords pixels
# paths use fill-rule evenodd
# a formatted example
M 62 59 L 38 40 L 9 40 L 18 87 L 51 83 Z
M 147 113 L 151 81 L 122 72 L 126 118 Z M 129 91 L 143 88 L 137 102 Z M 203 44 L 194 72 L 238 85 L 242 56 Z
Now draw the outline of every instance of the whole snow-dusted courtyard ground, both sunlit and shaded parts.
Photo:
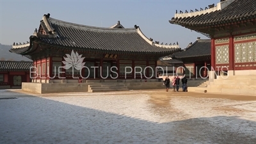
M 0 91 L 0 143 L 255 143 L 256 97 Z

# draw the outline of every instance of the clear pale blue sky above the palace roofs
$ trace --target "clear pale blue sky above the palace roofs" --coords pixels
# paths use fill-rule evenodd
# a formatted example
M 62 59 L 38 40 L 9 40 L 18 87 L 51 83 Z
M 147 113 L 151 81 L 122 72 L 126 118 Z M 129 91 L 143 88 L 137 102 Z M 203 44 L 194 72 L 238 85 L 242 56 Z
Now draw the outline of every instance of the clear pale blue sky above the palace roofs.
M 1 1 L 0 43 L 12 45 L 13 42 L 29 41 L 35 28 L 38 29 L 44 14 L 51 13 L 54 19 L 60 19 L 88 26 L 110 27 L 120 20 L 125 28 L 136 24 L 141 31 L 160 44 L 179 42 L 184 49 L 196 37 L 207 38 L 200 33 L 170 24 L 175 10 L 194 10 L 215 5 L 220 0 L 205 1 Z

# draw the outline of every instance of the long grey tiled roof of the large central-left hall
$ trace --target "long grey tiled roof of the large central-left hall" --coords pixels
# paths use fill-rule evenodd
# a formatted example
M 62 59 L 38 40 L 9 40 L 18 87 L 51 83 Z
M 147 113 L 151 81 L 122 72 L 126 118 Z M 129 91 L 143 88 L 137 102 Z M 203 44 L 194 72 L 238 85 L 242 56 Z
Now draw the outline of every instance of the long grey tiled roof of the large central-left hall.
M 43 22 L 41 20 L 40 24 L 49 35 L 34 33 L 36 36 L 34 40 L 37 43 L 88 51 L 133 52 L 135 54 L 143 52 L 167 55 L 180 51 L 179 45 L 160 45 L 159 42 L 152 42 L 152 39 L 143 35 L 136 25 L 134 28 L 99 28 L 52 19 L 49 15 L 44 15 Z M 21 45 L 13 45 L 13 49 L 19 47 Z M 18 51 L 13 49 L 11 51 Z M 23 50 L 26 51 L 24 48 Z M 24 52 L 23 50 L 20 51 Z

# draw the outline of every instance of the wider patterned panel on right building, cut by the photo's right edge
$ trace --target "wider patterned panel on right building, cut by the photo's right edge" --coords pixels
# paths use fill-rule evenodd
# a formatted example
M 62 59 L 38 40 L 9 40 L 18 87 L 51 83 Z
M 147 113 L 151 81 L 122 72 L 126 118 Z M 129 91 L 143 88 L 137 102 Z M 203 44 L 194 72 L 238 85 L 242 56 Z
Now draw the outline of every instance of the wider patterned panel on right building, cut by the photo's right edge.
M 256 61 L 256 41 L 235 44 L 235 63 Z

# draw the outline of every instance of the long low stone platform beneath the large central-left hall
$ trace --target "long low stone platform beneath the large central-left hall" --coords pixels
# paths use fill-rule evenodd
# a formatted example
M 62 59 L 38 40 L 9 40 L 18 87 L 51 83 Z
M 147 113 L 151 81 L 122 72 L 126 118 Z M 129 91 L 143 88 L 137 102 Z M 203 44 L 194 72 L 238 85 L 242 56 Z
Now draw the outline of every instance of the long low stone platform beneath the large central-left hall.
M 163 79 L 126 79 L 124 82 L 117 83 L 116 80 L 87 80 L 83 83 L 22 83 L 22 90 L 31 93 L 65 93 L 65 92 L 88 92 L 88 86 L 92 84 L 125 84 L 129 90 L 152 90 L 165 89 Z M 72 81 L 73 82 L 73 81 Z M 204 81 L 188 81 L 188 86 L 198 86 Z M 181 88 L 180 81 L 180 88 Z M 172 86 L 171 86 L 172 87 Z

